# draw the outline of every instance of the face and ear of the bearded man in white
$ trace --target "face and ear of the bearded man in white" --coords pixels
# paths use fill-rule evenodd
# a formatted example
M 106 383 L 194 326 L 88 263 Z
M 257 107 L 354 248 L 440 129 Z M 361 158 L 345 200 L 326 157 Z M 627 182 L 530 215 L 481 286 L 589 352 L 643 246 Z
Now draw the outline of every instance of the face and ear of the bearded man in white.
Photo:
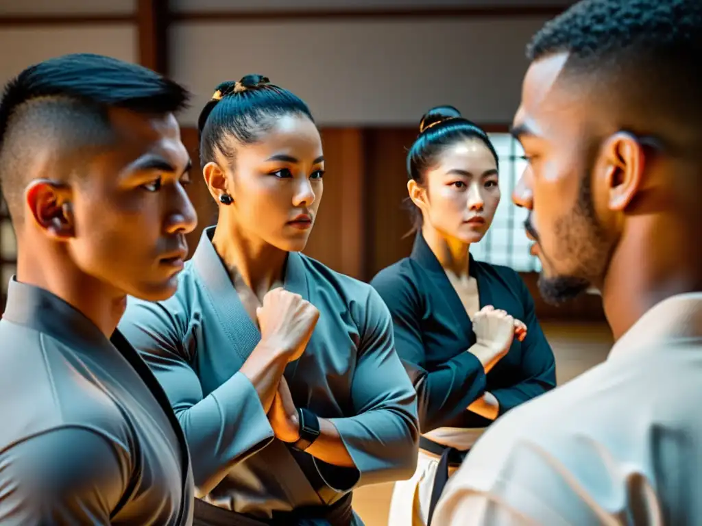
M 557 304 L 601 287 L 618 236 L 617 212 L 636 191 L 639 146 L 569 81 L 567 54 L 536 60 L 512 132 L 529 162 L 512 196 L 543 264 L 541 295 Z M 602 110 L 604 111 L 604 110 Z

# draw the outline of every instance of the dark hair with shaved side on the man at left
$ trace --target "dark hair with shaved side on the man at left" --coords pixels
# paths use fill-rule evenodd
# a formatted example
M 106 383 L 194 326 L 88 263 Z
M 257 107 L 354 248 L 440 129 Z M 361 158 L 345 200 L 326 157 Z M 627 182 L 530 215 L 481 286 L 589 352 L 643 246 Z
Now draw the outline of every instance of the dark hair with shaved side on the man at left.
M 170 114 L 189 94 L 145 67 L 79 53 L 28 67 L 0 100 L 0 184 L 13 224 L 27 184 L 66 182 L 114 140 L 109 112 Z

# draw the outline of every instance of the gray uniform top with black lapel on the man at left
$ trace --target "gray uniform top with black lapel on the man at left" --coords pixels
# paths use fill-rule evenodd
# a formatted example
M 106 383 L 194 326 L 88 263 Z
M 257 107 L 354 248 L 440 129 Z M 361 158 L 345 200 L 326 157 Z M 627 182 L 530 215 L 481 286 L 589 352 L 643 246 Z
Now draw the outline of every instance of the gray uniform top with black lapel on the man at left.
M 183 431 L 119 332 L 13 278 L 0 389 L 0 524 L 192 524 Z

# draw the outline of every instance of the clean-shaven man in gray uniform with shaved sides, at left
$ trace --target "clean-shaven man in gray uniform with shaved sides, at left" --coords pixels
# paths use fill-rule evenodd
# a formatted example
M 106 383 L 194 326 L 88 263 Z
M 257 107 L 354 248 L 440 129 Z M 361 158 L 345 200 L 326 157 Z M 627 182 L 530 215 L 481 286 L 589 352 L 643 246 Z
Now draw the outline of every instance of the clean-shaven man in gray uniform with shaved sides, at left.
M 166 299 L 197 222 L 178 84 L 98 55 L 25 69 L 0 101 L 18 271 L 0 321 L 0 523 L 186 525 L 187 445 L 115 330 Z

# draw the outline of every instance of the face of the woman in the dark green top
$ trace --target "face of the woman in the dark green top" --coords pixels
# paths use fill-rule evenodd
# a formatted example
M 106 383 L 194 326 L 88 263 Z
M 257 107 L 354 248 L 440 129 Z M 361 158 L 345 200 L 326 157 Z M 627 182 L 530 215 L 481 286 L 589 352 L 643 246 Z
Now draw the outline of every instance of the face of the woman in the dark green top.
M 423 184 L 409 180 L 407 189 L 425 224 L 446 238 L 477 243 L 500 203 L 497 161 L 482 140 L 465 138 L 438 154 Z

